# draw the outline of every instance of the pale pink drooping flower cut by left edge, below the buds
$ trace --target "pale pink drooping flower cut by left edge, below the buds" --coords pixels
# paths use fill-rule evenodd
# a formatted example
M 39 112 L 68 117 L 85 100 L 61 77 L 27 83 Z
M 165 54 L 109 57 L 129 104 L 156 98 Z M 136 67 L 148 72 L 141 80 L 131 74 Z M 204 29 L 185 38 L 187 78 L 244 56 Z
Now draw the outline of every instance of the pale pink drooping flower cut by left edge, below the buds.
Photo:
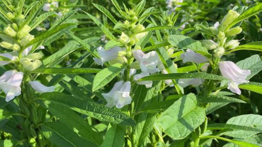
M 5 101 L 9 102 L 16 96 L 21 94 L 21 82 L 23 79 L 23 73 L 13 71 L 7 71 L 0 76 L 0 89 L 6 94 Z

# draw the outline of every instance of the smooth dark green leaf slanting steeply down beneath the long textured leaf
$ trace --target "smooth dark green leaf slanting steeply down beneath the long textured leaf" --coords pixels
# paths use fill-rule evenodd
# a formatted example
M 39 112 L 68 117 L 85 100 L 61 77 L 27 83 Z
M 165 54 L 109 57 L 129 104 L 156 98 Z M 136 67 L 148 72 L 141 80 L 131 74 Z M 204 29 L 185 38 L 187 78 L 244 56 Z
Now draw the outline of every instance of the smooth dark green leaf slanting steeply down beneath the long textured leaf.
M 61 122 L 66 124 L 67 127 L 76 132 L 83 139 L 91 141 L 92 144 L 97 146 L 101 144 L 102 137 L 100 134 L 94 131 L 92 126 L 90 126 L 86 120 L 77 115 L 73 110 L 49 101 L 44 101 L 44 103 L 39 104 L 49 110 L 50 113 L 59 118 Z

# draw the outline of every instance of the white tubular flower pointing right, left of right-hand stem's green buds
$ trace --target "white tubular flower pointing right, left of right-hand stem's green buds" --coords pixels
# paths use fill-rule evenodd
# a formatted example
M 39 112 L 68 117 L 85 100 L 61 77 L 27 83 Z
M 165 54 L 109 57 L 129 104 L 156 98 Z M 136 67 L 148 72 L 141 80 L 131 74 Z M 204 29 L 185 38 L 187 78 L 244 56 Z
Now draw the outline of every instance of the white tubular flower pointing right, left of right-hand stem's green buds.
M 208 61 L 208 59 L 205 56 L 195 53 L 191 49 L 187 49 L 185 53 L 180 55 L 180 57 L 183 60 L 183 63 L 186 62 L 204 63 Z

